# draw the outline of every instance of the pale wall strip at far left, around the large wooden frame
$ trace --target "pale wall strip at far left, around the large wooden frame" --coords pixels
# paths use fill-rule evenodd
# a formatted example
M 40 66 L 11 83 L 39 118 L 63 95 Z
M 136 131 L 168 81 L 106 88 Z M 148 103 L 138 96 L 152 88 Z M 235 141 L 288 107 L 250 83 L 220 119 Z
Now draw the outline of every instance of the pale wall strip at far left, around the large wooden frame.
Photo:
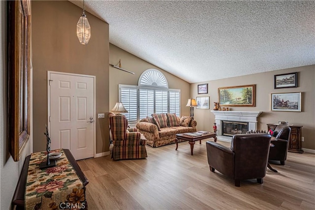
M 11 201 L 25 157 L 31 153 L 30 141 L 26 144 L 20 161 L 14 162 L 8 151 L 7 133 L 7 2 L 0 1 L 0 194 L 1 210 L 11 209 Z

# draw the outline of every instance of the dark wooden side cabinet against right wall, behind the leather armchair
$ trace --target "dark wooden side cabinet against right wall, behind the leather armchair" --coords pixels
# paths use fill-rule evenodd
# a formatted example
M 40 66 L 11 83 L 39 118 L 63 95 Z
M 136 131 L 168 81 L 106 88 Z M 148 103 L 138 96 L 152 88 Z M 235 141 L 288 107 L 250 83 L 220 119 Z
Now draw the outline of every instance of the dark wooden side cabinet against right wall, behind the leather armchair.
M 268 130 L 275 129 L 279 124 L 267 124 Z M 302 150 L 302 127 L 303 125 L 288 125 L 291 128 L 288 151 L 303 153 Z

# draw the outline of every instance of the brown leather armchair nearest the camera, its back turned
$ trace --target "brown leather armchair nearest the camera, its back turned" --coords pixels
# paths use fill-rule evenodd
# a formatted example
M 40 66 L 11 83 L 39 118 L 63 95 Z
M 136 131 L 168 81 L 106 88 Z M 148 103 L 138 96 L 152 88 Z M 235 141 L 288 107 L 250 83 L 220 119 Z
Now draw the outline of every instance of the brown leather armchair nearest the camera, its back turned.
M 221 174 L 235 180 L 235 186 L 240 186 L 240 180 L 257 179 L 263 183 L 266 176 L 268 153 L 271 135 L 236 134 L 232 137 L 231 147 L 207 141 L 207 156 L 210 171 L 217 169 Z

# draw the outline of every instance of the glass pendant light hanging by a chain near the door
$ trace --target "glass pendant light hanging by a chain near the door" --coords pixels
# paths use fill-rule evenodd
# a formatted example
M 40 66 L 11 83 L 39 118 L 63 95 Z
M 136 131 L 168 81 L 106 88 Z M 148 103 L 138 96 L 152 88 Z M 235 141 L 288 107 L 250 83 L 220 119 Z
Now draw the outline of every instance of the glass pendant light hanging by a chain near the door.
M 77 23 L 77 36 L 81 44 L 86 45 L 89 43 L 91 38 L 91 27 L 84 11 L 83 1 L 83 12 Z

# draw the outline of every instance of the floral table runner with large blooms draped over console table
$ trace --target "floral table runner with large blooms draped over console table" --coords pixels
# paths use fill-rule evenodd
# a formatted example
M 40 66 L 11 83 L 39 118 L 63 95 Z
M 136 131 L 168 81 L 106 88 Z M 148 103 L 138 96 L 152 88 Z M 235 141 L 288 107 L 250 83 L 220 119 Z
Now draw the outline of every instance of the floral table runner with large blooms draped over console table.
M 39 169 L 47 152 L 32 153 L 26 182 L 26 210 L 85 209 L 85 187 L 63 150 L 56 166 Z

